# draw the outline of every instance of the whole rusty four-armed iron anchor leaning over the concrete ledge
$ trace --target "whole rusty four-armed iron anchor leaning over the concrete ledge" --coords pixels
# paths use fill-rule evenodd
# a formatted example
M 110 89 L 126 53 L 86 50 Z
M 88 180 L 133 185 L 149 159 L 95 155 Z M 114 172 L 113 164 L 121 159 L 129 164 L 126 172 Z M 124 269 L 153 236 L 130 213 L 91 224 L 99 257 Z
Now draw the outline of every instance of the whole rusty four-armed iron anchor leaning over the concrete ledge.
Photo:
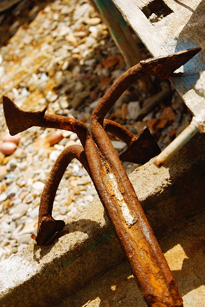
M 121 154 L 122 160 L 145 163 L 158 154 L 159 148 L 147 128 L 136 137 L 124 127 L 105 120 L 104 117 L 134 81 L 147 74 L 166 78 L 200 50 L 182 50 L 168 56 L 143 60 L 126 71 L 110 87 L 93 111 L 92 135 L 83 122 L 46 114 L 46 108 L 39 112 L 25 112 L 6 95 L 3 96 L 4 114 L 11 135 L 32 126 L 58 128 L 75 132 L 82 144 L 64 149 L 54 163 L 41 196 L 37 236 L 33 235 L 37 244 L 50 244 L 64 227 L 64 221 L 52 218 L 52 205 L 66 167 L 73 158 L 77 158 L 91 176 L 137 285 L 150 307 L 180 307 L 183 306 L 183 301 L 133 186 L 105 131 L 126 142 L 128 148 Z

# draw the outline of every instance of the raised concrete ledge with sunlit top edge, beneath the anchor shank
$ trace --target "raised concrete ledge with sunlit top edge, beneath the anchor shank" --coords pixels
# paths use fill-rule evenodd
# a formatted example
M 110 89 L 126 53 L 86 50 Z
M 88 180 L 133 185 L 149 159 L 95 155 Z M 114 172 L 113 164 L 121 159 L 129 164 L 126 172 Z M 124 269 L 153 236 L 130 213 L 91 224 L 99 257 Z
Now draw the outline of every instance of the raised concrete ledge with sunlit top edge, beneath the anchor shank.
M 151 160 L 130 175 L 158 239 L 204 208 L 204 145 L 197 134 L 165 167 Z M 68 218 L 65 230 L 52 245 L 33 243 L 0 264 L 1 306 L 51 307 L 122 262 L 99 200 Z

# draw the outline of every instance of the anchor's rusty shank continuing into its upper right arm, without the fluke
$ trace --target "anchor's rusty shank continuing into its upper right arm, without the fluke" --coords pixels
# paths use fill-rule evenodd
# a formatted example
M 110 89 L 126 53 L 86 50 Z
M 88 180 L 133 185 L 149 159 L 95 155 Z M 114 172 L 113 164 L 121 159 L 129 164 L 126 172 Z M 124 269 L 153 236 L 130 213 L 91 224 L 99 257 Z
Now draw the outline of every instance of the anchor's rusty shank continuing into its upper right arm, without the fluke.
M 100 177 L 102 188 L 98 187 L 98 189 L 103 204 L 148 306 L 176 307 L 182 306 L 183 303 L 175 279 L 126 171 L 103 129 L 104 116 L 107 111 L 122 92 L 143 75 L 146 73 L 140 64 L 130 68 L 110 87 L 93 111 L 91 132 L 106 160 L 105 168 L 106 165 L 110 165 L 107 173 L 95 172 L 93 179 L 94 182 L 97 180 L 99 182 Z M 87 158 L 91 171 L 92 168 L 96 169 L 97 166 L 92 165 L 91 157 Z M 104 195 L 105 191 L 109 193 Z

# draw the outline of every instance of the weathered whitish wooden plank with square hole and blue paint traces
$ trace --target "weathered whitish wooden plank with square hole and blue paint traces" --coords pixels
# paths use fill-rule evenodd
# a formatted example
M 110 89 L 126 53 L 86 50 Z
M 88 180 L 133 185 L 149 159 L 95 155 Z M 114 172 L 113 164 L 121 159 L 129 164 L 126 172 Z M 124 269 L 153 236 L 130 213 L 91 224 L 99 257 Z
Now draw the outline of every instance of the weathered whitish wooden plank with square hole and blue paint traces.
M 205 70 L 205 1 L 184 0 L 112 0 L 126 17 L 141 41 L 153 56 L 170 54 L 182 49 L 201 47 L 187 64 L 176 72 L 180 77 L 170 78 L 180 96 L 194 115 L 205 109 L 205 99 L 194 89 L 199 73 Z M 145 13 L 153 7 L 168 6 L 170 13 L 151 23 Z M 162 7 L 162 11 L 165 8 Z M 153 13 L 153 11 L 150 11 Z M 147 14 L 148 14 L 147 13 Z M 156 12 L 154 12 L 156 13 Z M 166 15 L 166 14 L 165 14 Z

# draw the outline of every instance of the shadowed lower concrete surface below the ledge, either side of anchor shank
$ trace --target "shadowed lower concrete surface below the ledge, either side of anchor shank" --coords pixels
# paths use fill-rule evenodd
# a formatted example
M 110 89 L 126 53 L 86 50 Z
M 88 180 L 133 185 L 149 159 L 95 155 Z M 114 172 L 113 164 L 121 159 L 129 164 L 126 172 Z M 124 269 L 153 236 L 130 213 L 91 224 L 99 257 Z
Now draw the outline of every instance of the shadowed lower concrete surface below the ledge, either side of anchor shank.
M 172 270 L 182 296 L 205 284 L 205 212 L 199 213 L 160 241 L 163 252 L 180 245 L 184 255 L 171 253 L 168 262 L 178 262 L 182 258 L 181 270 Z M 184 259 L 183 259 L 184 258 Z M 56 307 L 146 307 L 144 298 L 137 287 L 126 261 L 113 267 L 102 277 L 88 284 L 73 296 L 56 304 Z M 197 293 L 196 293 L 197 295 Z M 196 297 L 196 299 L 198 299 Z M 90 304 L 89 304 L 90 303 Z M 203 305 L 203 302 L 202 302 Z

